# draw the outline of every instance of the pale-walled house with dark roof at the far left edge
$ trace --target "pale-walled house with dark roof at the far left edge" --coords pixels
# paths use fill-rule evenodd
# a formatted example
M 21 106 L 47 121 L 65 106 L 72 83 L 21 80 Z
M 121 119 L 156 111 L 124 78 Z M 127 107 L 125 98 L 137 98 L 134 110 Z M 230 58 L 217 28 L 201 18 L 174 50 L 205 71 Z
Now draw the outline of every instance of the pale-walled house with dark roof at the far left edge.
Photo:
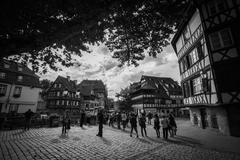
M 39 77 L 28 67 L 0 60 L 0 112 L 36 112 L 41 88 Z

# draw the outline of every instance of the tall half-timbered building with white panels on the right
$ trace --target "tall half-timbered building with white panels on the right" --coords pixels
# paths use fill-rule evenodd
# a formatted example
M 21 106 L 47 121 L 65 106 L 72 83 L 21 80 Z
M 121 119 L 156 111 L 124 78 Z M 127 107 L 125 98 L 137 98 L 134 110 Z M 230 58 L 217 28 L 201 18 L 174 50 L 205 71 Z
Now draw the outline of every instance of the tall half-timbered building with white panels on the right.
M 240 1 L 187 5 L 172 45 L 193 124 L 240 135 Z

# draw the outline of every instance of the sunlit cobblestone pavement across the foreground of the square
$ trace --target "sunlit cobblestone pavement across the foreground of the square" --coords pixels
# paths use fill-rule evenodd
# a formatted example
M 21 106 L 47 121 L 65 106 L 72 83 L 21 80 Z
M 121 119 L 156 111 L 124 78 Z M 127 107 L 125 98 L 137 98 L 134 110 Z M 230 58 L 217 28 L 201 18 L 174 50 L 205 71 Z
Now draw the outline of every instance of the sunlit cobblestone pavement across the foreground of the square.
M 68 136 L 61 128 L 29 131 L 0 131 L 0 160 L 15 159 L 213 159 L 240 160 L 240 155 L 204 149 L 196 144 L 154 136 L 136 138 L 129 133 L 104 127 L 104 137 L 96 136 L 97 127 L 72 127 Z

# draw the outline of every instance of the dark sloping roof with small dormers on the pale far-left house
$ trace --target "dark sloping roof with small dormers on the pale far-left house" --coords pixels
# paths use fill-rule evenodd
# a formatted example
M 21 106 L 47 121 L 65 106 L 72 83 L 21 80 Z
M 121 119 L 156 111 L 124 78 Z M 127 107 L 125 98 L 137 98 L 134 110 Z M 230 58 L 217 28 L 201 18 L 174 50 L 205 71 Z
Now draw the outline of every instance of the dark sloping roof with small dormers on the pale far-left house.
M 9 68 L 4 68 L 4 64 L 8 64 Z M 19 67 L 21 67 L 21 71 L 18 70 Z M 0 72 L 6 73 L 6 78 L 1 79 L 1 82 L 40 88 L 39 77 L 25 65 L 0 59 Z M 23 80 L 17 81 L 18 76 L 23 76 Z

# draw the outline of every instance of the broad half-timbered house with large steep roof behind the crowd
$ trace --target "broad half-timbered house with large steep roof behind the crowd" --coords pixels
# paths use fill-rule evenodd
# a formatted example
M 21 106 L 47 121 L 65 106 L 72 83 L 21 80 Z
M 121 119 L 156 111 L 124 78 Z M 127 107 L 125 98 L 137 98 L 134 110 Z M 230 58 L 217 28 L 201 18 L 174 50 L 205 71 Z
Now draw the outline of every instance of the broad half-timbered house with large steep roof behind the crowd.
M 182 89 L 171 78 L 145 76 L 130 86 L 131 103 L 135 110 L 179 114 Z

